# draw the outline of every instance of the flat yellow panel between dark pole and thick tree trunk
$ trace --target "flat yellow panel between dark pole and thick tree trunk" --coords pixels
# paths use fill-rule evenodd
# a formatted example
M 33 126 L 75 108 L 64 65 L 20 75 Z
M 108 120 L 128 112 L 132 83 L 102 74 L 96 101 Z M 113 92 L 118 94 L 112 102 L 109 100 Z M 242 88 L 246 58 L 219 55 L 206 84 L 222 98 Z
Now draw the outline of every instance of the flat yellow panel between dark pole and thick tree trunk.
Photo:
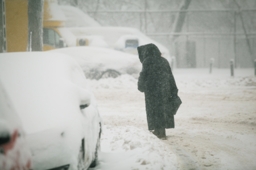
M 7 52 L 27 50 L 27 0 L 6 0 Z

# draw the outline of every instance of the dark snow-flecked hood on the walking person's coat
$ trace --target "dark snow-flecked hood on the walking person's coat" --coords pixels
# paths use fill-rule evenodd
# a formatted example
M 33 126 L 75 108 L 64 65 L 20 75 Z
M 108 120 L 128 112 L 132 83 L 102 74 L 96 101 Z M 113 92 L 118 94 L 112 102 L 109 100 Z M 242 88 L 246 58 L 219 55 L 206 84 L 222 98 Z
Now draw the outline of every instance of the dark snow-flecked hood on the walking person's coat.
M 138 46 L 139 61 L 141 63 L 145 58 L 156 58 L 161 56 L 161 52 L 155 44 L 146 44 Z

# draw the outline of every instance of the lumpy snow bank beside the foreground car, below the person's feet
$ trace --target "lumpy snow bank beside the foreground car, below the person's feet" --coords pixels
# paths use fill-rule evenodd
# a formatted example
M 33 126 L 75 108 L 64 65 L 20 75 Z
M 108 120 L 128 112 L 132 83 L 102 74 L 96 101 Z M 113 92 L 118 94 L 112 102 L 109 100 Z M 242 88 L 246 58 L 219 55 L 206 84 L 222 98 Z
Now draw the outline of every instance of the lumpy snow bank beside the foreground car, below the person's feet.
M 103 126 L 101 152 L 96 168 L 177 169 L 177 157 L 155 135 L 134 126 Z

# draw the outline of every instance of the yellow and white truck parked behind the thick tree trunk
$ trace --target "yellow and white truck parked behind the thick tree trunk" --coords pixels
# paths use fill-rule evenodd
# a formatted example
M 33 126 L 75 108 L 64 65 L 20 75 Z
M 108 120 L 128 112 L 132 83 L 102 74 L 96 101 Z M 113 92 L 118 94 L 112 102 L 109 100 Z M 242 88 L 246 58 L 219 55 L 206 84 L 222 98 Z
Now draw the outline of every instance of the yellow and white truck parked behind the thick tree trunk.
M 4 3 L 5 2 L 5 3 Z M 1 10 L 4 22 L 0 23 L 3 36 L 0 38 L 0 52 L 26 52 L 28 39 L 27 0 L 3 1 Z M 43 50 L 63 48 L 65 46 L 86 46 L 88 39 L 76 38 L 65 27 L 66 17 L 56 0 L 44 1 L 43 13 Z M 1 46 L 3 44 L 3 46 Z

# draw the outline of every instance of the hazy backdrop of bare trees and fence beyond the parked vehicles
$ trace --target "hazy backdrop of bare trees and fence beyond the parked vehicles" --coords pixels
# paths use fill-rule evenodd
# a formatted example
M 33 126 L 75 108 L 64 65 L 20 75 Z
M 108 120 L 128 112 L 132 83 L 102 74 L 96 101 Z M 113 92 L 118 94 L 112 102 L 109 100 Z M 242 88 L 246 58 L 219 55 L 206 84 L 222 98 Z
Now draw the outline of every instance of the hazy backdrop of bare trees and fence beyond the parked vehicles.
M 133 27 L 160 42 L 176 66 L 253 67 L 256 58 L 254 0 L 58 0 L 80 8 L 102 26 Z M 74 27 L 68 24 L 67 27 Z M 77 24 L 76 26 L 79 26 Z

